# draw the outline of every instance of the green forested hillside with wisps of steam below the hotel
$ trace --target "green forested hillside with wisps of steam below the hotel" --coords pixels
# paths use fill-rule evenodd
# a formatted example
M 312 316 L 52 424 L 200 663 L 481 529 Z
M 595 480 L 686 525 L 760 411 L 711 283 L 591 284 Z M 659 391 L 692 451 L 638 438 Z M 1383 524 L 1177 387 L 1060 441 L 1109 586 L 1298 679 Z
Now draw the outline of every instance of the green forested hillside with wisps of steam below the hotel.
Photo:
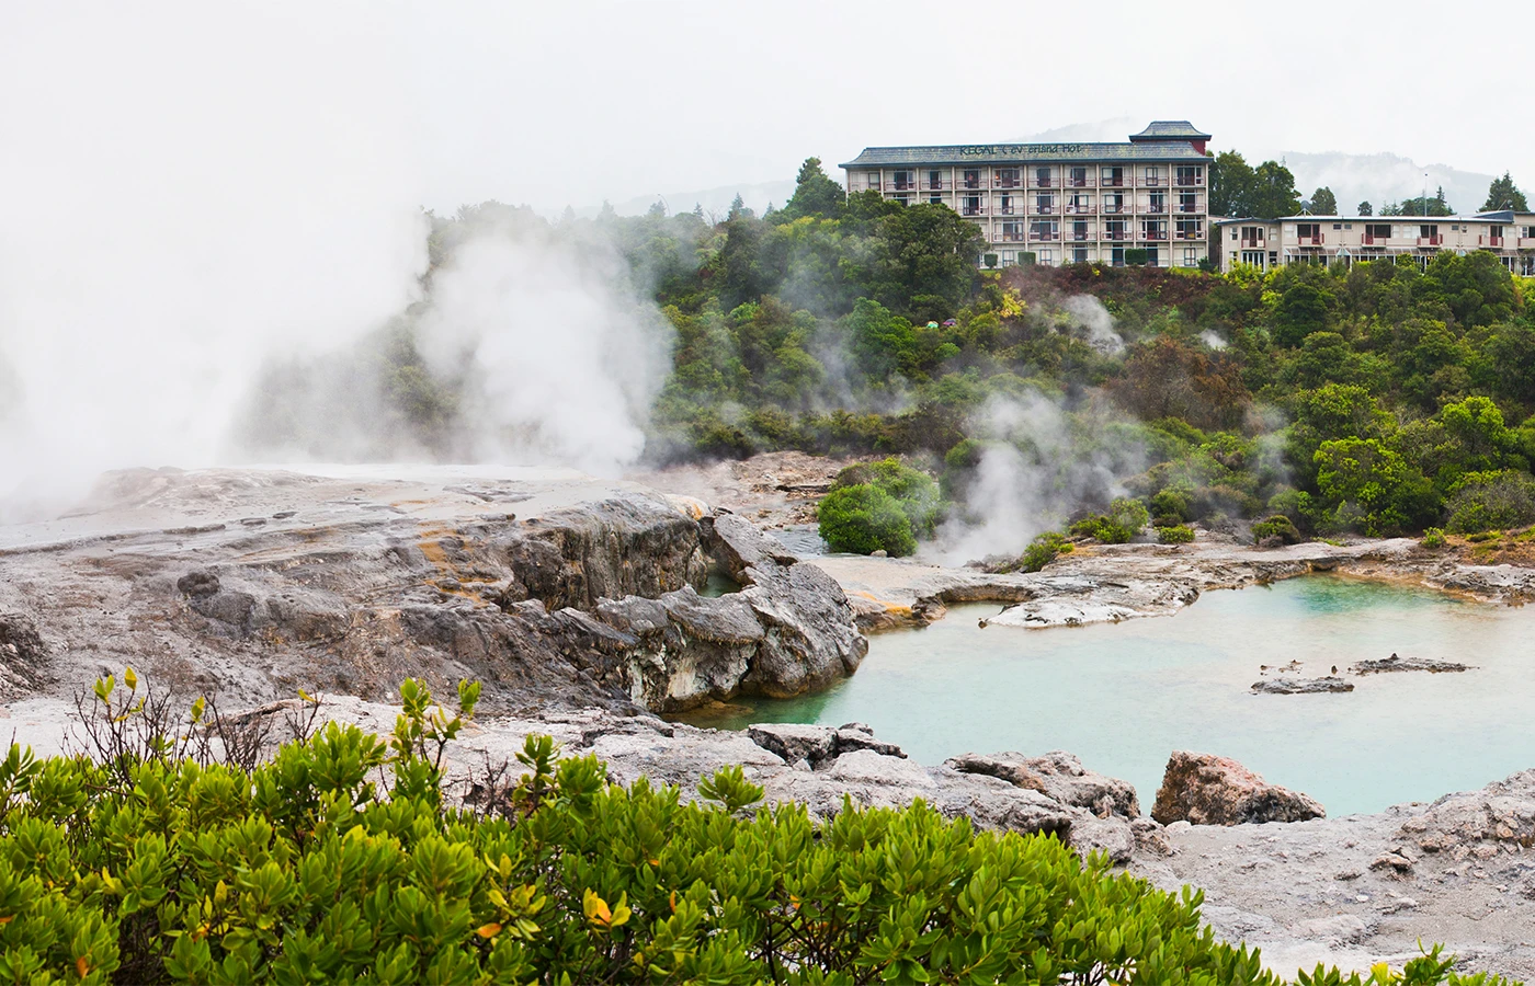
M 493 207 L 507 210 L 437 219 L 434 259 Z M 1021 483 L 1039 528 L 1124 495 L 1164 526 L 1535 523 L 1535 317 L 1527 284 L 1487 253 L 1268 274 L 978 270 L 982 244 L 952 210 L 847 198 L 814 158 L 764 216 L 657 207 L 543 235 L 616 244 L 675 333 L 655 462 L 903 455 L 942 480 L 950 517 Z

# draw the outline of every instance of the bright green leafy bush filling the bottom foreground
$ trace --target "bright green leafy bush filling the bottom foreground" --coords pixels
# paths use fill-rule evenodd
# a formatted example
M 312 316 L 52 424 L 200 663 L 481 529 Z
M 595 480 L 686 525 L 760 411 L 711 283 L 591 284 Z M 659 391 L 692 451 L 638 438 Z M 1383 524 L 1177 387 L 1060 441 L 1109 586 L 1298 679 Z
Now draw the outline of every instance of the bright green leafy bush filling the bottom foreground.
M 453 808 L 442 756 L 476 696 L 460 685 L 448 713 L 407 681 L 388 741 L 330 724 L 244 770 L 178 759 L 184 736 L 117 742 L 141 696 L 103 682 L 109 762 L 0 764 L 0 978 L 1280 981 L 1200 926 L 1197 891 L 921 802 L 752 810 L 763 791 L 731 767 L 683 804 L 543 736 L 520 777 Z M 1435 952 L 1369 981 L 1492 981 L 1449 968 Z

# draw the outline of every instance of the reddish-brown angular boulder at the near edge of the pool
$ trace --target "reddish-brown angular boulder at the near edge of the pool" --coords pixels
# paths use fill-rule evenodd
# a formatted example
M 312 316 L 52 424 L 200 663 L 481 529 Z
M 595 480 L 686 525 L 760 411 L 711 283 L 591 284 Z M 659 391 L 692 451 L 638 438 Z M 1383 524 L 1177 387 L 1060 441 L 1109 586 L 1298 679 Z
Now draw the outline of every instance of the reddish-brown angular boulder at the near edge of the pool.
M 1326 817 L 1326 811 L 1315 799 L 1266 784 L 1230 758 L 1174 750 L 1151 817 L 1162 825 L 1243 825 L 1305 822 Z

